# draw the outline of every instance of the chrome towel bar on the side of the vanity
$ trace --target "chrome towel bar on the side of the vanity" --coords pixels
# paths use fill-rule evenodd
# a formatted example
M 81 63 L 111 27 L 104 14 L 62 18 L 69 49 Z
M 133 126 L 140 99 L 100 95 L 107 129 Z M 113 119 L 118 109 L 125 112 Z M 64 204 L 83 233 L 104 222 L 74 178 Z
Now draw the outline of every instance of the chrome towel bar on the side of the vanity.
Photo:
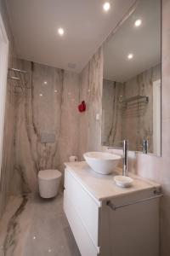
M 111 201 L 107 201 L 106 204 L 108 207 L 111 207 L 112 210 L 116 211 L 119 208 L 132 206 L 132 205 L 138 204 L 140 202 L 149 201 L 149 200 L 161 197 L 161 196 L 163 196 L 163 194 L 161 192 L 155 190 L 153 196 L 150 196 L 150 197 L 138 200 L 138 201 L 133 201 L 133 202 L 129 202 L 127 204 L 122 204 L 122 205 L 118 205 L 118 206 L 115 206 Z

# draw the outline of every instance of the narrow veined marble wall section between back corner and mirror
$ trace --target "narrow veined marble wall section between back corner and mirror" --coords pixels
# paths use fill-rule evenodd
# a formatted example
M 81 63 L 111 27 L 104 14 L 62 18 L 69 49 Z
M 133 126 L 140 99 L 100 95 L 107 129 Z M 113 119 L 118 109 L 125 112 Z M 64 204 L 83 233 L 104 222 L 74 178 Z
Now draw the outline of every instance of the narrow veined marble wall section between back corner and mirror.
M 103 49 L 94 54 L 80 74 L 80 102 L 85 101 L 87 111 L 79 113 L 79 159 L 87 151 L 101 147 L 101 113 L 103 86 Z M 96 115 L 99 115 L 99 119 Z M 97 119 L 96 119 L 97 117 Z

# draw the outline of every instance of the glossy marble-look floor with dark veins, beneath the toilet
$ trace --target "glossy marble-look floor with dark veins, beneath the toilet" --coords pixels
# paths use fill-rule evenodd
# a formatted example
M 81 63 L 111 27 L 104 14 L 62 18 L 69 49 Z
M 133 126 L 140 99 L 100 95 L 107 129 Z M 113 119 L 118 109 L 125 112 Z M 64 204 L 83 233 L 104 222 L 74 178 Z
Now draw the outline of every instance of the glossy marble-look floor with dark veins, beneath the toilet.
M 63 195 L 10 197 L 0 222 L 0 256 L 80 256 L 62 203 Z

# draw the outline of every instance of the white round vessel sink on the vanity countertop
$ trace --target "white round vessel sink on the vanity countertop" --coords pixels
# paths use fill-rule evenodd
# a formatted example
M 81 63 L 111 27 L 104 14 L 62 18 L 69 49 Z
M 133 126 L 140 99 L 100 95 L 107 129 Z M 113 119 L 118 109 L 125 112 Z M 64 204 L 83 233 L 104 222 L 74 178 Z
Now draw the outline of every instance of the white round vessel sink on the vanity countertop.
M 100 174 L 110 174 L 113 172 L 122 158 L 118 154 L 107 152 L 87 152 L 83 154 L 83 157 L 87 161 L 88 166 Z

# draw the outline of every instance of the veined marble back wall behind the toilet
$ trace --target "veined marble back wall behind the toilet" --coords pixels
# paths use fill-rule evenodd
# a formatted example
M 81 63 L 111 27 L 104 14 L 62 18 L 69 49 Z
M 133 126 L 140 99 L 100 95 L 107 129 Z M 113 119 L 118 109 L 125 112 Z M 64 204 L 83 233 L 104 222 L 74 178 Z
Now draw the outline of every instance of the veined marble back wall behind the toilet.
M 31 90 L 15 96 L 13 195 L 36 191 L 39 170 L 63 172 L 78 153 L 79 75 L 31 61 L 20 68 Z

